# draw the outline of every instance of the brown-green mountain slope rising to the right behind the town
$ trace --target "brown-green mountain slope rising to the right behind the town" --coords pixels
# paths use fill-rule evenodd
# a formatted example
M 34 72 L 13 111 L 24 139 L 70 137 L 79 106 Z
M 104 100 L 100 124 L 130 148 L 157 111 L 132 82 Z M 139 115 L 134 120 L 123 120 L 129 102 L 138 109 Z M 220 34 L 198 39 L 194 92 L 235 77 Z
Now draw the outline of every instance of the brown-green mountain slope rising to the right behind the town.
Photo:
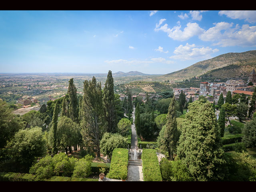
M 254 68 L 256 68 L 256 50 L 251 50 L 222 54 L 161 77 L 174 81 L 205 75 L 216 78 L 246 78 Z

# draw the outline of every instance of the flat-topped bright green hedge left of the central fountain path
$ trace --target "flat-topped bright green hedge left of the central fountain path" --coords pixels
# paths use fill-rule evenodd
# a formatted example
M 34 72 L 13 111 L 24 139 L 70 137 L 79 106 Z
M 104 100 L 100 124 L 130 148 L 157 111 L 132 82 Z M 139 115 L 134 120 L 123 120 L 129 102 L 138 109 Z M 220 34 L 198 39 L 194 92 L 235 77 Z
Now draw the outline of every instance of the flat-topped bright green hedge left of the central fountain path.
M 106 177 L 110 179 L 121 179 L 122 175 L 126 175 L 128 172 L 128 150 L 124 148 L 115 148 L 112 153 L 112 160 L 110 164 L 110 170 Z

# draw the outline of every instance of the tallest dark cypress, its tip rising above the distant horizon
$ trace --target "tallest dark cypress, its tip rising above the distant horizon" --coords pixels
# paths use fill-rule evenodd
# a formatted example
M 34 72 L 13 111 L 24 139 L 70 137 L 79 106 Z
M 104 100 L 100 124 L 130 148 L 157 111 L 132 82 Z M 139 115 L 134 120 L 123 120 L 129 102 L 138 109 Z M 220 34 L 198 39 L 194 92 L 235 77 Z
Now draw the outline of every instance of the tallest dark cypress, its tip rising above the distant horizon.
M 105 82 L 103 89 L 103 108 L 104 116 L 106 122 L 108 122 L 108 132 L 116 132 L 117 126 L 117 116 L 116 116 L 116 106 L 115 106 L 115 96 L 114 96 L 114 79 L 112 77 L 112 72 L 108 71 L 108 77 Z

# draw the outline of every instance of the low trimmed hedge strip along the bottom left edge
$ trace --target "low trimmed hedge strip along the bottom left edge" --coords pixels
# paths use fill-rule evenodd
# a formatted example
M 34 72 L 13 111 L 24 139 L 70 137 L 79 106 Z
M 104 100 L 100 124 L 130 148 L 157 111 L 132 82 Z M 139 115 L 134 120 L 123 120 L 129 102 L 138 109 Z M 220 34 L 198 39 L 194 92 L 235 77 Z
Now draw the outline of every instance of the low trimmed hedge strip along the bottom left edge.
M 33 174 L 0 172 L 0 181 L 98 181 L 98 179 L 54 176 L 50 179 L 38 180 Z

